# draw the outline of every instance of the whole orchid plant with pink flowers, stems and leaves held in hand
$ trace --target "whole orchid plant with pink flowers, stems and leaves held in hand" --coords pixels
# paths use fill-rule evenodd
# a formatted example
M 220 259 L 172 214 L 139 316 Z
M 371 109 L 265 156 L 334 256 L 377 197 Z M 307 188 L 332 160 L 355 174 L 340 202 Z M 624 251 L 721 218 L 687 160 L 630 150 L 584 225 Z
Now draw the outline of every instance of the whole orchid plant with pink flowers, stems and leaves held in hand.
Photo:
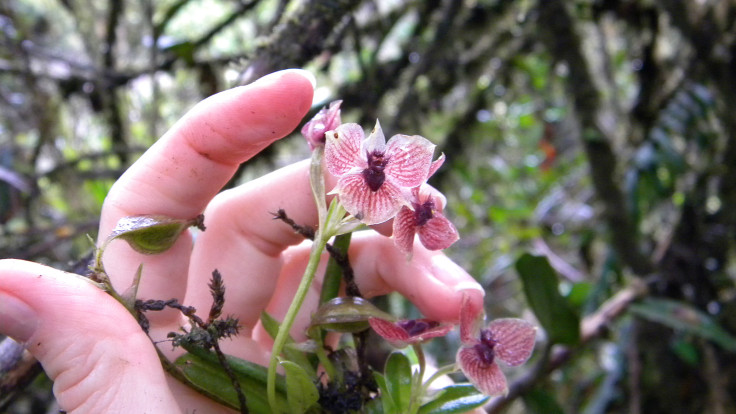
M 241 412 L 453 413 L 471 410 L 492 396 L 503 395 L 508 388 L 497 361 L 518 366 L 529 359 L 536 336 L 532 324 L 505 318 L 491 321 L 484 328 L 482 312 L 473 311 L 465 298 L 458 316 L 462 345 L 456 362 L 425 375 L 428 367 L 422 345 L 447 335 L 454 325 L 426 318 L 398 318 L 361 297 L 345 254 L 351 232 L 393 219 L 395 246 L 407 260 L 411 260 L 415 238 L 429 250 L 441 250 L 457 241 L 459 235 L 443 214 L 444 196 L 427 184 L 442 166 L 444 154 L 434 159 L 435 145 L 418 135 L 398 134 L 387 141 L 379 122 L 366 137 L 360 125 L 342 123 L 340 107 L 341 101 L 331 103 L 301 130 L 312 150 L 310 184 L 319 226 L 316 230 L 301 227 L 288 217 L 288 212 L 276 215 L 313 242 L 309 262 L 283 320 L 276 321 L 267 313 L 262 316 L 263 326 L 274 338 L 267 368 L 220 351 L 218 340 L 236 335 L 238 327 L 237 321 L 220 318 L 224 285 L 219 274 L 213 274 L 210 289 L 215 300 L 206 320 L 175 300 L 140 301 L 135 298 L 135 289 L 122 295 L 114 293 L 101 261 L 107 243 L 98 251 L 93 279 L 112 291 L 141 320 L 144 329 L 146 311 L 169 307 L 187 316 L 191 330 L 170 336 L 188 353 L 173 363 L 162 356 L 164 367 L 203 394 Z M 337 181 L 329 192 L 325 170 Z M 108 243 L 124 239 L 143 253 L 160 253 L 190 225 L 203 229 L 201 217 L 193 221 L 158 216 L 126 218 Z M 312 317 L 309 340 L 296 343 L 289 332 L 325 250 L 333 266 L 328 266 L 325 275 L 321 306 Z M 347 296 L 339 297 L 336 286 L 342 278 Z M 395 348 L 409 351 L 391 354 L 383 373 L 372 372 L 363 360 L 368 330 Z M 351 334 L 353 341 L 342 341 L 346 344 L 342 349 L 328 353 L 324 346 L 326 332 Z M 433 388 L 436 379 L 456 371 L 462 371 L 470 384 Z M 223 392 L 222 387 L 212 385 L 223 381 L 229 381 L 233 389 Z

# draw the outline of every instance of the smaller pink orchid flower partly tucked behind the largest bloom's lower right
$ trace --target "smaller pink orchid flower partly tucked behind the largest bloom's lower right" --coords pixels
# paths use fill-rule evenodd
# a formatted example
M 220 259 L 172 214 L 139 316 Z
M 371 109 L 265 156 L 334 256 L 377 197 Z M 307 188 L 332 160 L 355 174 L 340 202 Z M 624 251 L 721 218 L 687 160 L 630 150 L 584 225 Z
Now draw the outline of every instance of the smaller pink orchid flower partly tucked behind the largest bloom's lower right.
M 394 218 L 394 243 L 401 251 L 411 254 L 414 235 L 429 250 L 450 247 L 460 236 L 457 229 L 442 214 L 444 197 L 424 184 L 411 190 L 412 208 L 403 206 Z

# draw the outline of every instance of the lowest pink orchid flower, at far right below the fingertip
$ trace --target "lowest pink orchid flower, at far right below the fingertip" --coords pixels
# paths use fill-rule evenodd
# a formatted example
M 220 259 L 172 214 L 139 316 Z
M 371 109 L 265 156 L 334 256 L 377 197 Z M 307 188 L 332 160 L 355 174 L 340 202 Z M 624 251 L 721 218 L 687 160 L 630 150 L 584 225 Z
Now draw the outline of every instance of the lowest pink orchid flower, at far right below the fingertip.
M 534 325 L 522 319 L 502 318 L 478 329 L 480 315 L 471 315 L 465 300 L 460 311 L 462 347 L 457 364 L 468 380 L 483 394 L 506 394 L 506 376 L 496 361 L 519 366 L 532 355 L 536 337 Z

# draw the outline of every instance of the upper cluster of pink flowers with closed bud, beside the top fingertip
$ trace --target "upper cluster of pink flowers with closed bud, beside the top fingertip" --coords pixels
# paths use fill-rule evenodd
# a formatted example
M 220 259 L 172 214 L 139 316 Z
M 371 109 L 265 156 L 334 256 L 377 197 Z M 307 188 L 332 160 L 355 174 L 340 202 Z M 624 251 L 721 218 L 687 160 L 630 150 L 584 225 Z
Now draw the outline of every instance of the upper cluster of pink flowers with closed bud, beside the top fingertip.
M 327 170 L 338 180 L 332 194 L 365 224 L 393 218 L 396 246 L 407 254 L 415 235 L 429 250 L 453 244 L 459 236 L 442 214 L 444 196 L 427 184 L 444 154 L 432 161 L 435 145 L 419 135 L 398 134 L 387 142 L 378 121 L 365 137 L 360 125 L 340 123 L 340 102 L 322 109 L 302 129 L 312 148 L 325 146 Z

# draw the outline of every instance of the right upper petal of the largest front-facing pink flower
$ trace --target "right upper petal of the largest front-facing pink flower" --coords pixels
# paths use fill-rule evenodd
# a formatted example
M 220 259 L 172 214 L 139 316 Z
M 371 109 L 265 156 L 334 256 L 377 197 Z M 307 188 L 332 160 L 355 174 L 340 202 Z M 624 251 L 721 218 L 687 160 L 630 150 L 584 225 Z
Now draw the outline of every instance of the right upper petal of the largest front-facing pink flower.
M 386 144 L 386 178 L 401 187 L 427 181 L 435 145 L 419 135 L 394 135 Z

